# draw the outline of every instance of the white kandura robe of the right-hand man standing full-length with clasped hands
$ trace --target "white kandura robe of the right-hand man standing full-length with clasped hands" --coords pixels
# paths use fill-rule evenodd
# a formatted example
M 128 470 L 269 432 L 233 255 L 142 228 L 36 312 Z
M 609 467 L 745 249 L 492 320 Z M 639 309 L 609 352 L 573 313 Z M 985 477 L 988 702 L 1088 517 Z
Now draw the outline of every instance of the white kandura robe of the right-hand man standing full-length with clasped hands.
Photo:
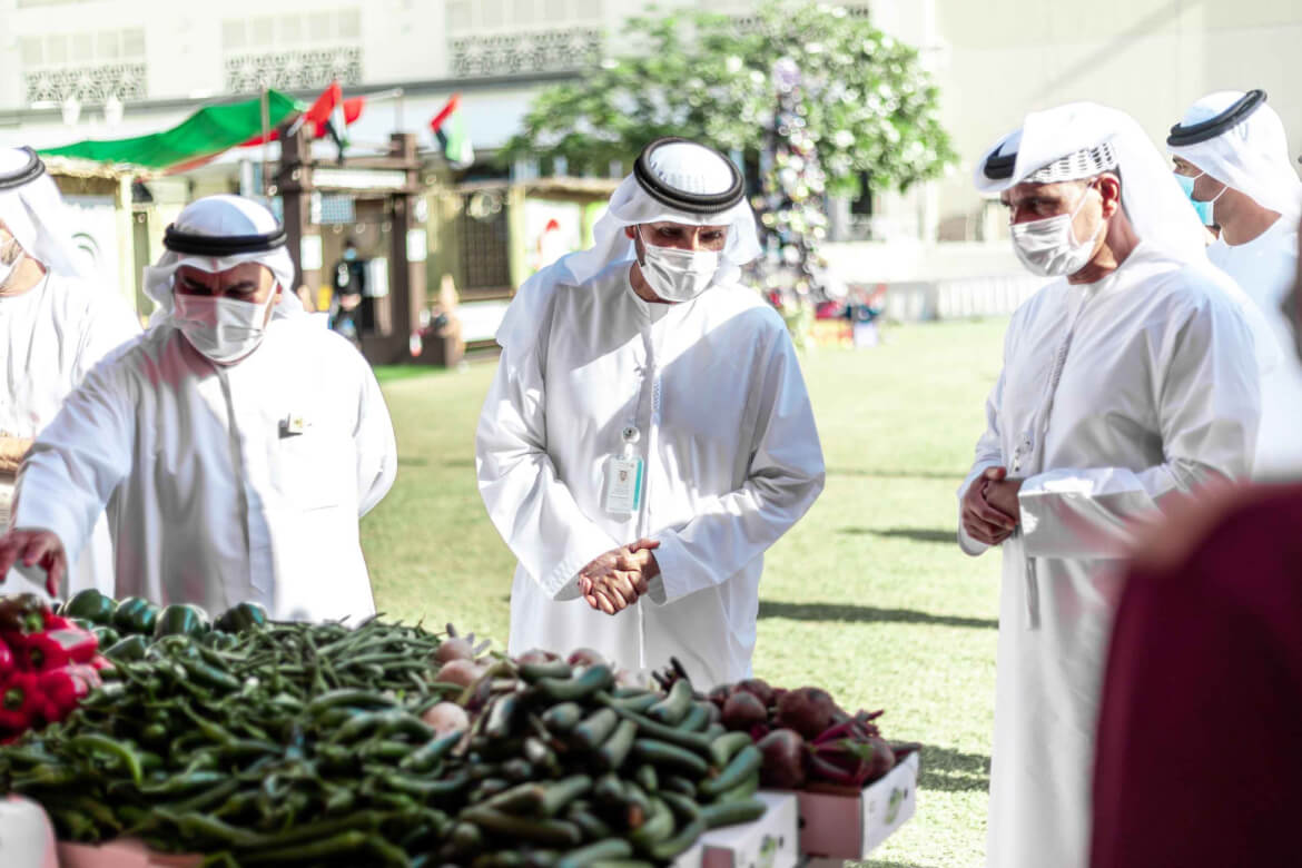
M 1251 468 L 1259 376 L 1224 280 L 1141 245 L 1096 284 L 1049 284 L 1009 324 L 988 428 L 958 492 L 991 466 L 1023 479 L 1022 523 L 1003 545 L 993 868 L 1088 864 L 1095 717 L 1128 524 L 1173 492 Z M 960 545 L 986 549 L 962 530 Z

